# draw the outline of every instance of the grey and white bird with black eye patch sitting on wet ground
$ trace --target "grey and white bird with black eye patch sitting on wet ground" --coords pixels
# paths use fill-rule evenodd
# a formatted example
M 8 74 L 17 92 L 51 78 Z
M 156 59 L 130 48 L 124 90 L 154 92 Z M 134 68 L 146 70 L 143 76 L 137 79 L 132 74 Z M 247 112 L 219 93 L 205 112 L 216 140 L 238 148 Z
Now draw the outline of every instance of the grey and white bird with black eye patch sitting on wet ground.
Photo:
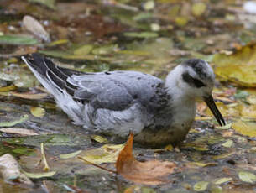
M 94 133 L 125 139 L 133 132 L 143 145 L 176 146 L 194 122 L 198 98 L 226 124 L 212 97 L 214 72 L 204 60 L 185 60 L 165 81 L 139 71 L 70 70 L 37 53 L 22 60 L 73 123 Z

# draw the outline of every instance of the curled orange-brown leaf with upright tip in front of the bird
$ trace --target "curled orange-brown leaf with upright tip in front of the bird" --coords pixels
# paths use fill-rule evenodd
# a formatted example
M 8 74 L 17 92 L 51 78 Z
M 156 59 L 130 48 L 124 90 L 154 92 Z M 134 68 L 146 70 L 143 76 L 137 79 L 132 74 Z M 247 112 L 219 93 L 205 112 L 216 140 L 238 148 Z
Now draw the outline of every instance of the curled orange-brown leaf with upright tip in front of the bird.
M 174 163 L 168 161 L 137 161 L 133 157 L 133 133 L 131 133 L 125 147 L 118 155 L 116 168 L 118 174 L 123 175 L 127 180 L 144 185 L 159 185 L 169 182 L 165 177 L 174 173 L 176 167 Z

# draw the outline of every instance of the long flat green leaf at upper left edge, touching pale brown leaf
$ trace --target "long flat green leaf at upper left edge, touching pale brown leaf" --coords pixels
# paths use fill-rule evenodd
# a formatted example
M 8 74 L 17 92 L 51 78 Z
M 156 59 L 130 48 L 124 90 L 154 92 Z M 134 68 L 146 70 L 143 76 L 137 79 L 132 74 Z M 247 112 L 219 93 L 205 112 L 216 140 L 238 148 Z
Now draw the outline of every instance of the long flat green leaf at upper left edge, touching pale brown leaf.
M 38 44 L 37 39 L 28 36 L 2 35 L 0 44 Z

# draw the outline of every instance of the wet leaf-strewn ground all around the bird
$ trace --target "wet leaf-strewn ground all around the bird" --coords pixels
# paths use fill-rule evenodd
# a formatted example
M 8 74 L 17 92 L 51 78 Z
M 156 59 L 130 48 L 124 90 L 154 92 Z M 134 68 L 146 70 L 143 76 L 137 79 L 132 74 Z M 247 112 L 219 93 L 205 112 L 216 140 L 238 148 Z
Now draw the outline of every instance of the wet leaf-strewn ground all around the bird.
M 0 192 L 256 192 L 255 7 L 246 1 L 2 0 L 0 155 L 12 154 L 34 185 L 0 179 Z M 135 184 L 77 159 L 115 170 L 116 151 L 108 145 L 118 142 L 74 126 L 55 107 L 20 60 L 33 52 L 74 70 L 139 70 L 163 79 L 184 60 L 207 60 L 217 74 L 213 97 L 228 124 L 218 127 L 198 102 L 180 150 L 134 146 L 139 161 L 175 162 L 179 170 L 170 182 Z M 54 175 L 45 176 L 42 143 Z

